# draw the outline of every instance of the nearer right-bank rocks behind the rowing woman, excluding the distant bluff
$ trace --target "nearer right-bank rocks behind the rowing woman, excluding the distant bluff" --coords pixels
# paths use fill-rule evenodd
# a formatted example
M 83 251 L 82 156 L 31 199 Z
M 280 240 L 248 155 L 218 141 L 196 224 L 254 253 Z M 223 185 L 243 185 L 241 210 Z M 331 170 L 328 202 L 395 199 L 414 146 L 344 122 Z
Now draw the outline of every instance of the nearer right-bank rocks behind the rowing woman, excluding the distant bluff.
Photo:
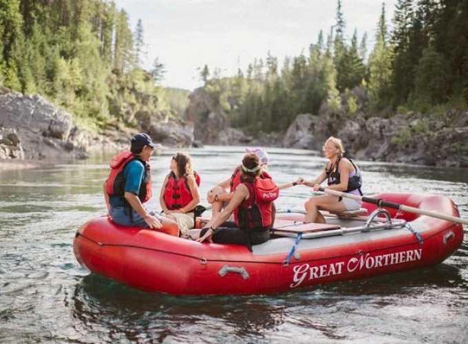
M 301 114 L 290 125 L 283 146 L 320 150 L 333 135 L 361 160 L 468 167 L 468 111 L 447 111 L 443 118 L 413 112 L 391 118 L 361 114 L 352 120 Z

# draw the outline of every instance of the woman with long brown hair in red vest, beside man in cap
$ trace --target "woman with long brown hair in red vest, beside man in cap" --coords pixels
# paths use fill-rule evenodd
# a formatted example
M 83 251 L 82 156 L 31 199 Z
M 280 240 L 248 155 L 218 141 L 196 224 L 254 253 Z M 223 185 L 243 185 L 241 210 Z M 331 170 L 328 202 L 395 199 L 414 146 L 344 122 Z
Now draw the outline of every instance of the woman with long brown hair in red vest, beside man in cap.
M 191 159 L 185 153 L 177 153 L 171 158 L 171 172 L 164 179 L 159 197 L 164 216 L 175 220 L 180 236 L 195 226 L 193 208 L 200 203 L 200 177 L 192 171 Z

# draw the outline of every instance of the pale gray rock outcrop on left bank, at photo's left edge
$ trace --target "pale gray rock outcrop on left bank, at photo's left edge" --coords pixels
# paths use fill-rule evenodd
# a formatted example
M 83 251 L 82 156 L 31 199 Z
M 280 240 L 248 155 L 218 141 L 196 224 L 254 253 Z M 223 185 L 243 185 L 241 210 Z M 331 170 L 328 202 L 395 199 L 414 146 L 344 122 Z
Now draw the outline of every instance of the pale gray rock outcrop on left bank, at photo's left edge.
M 92 151 L 120 148 L 112 138 L 76 127 L 71 114 L 39 95 L 5 88 L 0 93 L 0 159 L 83 159 Z

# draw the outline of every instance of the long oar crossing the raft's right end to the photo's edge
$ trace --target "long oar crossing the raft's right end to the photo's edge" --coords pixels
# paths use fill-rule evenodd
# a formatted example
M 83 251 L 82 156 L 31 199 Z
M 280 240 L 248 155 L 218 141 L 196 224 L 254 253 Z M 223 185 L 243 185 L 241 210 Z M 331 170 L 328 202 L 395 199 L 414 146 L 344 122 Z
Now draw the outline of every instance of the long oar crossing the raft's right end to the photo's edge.
M 376 206 L 387 206 L 388 208 L 397 209 L 398 211 L 407 211 L 408 213 L 415 213 L 420 215 L 427 215 L 431 217 L 436 217 L 438 219 L 446 219 L 447 221 L 456 222 L 458 224 L 468 224 L 468 219 L 462 219 L 460 217 L 454 217 L 451 215 L 440 214 L 434 211 L 425 211 L 423 209 L 413 208 L 412 206 L 405 206 L 404 204 L 397 204 L 393 202 L 387 202 L 385 200 L 372 197 L 352 195 L 351 193 L 342 193 L 341 191 L 336 191 L 328 188 L 320 188 L 320 191 L 330 193 L 330 195 L 336 195 L 340 197 L 352 198 L 353 200 L 361 200 L 365 203 L 376 204 Z

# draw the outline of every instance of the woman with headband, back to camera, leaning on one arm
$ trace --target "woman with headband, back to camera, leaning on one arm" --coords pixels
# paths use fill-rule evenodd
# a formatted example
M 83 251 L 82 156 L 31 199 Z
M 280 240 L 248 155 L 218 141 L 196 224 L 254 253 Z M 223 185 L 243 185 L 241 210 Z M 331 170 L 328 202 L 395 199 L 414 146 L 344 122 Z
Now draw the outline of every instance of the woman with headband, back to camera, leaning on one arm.
M 273 225 L 273 201 L 279 195 L 275 182 L 260 178 L 262 166 L 255 153 L 242 159 L 240 184 L 231 201 L 209 228 L 203 228 L 197 241 L 210 239 L 217 243 L 246 245 L 262 244 L 270 238 Z M 226 222 L 234 213 L 234 223 Z

